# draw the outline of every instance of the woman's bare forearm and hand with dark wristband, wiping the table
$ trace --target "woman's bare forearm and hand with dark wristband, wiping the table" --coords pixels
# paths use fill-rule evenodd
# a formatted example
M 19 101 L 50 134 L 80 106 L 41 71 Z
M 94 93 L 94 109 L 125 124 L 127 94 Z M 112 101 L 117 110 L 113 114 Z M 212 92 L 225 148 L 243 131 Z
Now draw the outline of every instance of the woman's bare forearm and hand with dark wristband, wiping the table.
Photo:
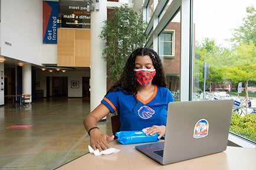
M 86 128 L 86 131 L 88 132 L 91 128 L 96 127 L 97 122 L 104 118 L 104 116 L 107 116 L 109 112 L 109 109 L 105 105 L 100 104 L 97 106 L 97 108 L 90 112 L 90 114 L 88 114 L 84 119 L 84 128 Z M 90 131 L 90 143 L 94 150 L 99 149 L 102 151 L 110 148 L 109 144 L 107 144 L 107 141 L 112 141 L 113 139 L 114 136 L 103 134 L 100 129 L 94 128 Z

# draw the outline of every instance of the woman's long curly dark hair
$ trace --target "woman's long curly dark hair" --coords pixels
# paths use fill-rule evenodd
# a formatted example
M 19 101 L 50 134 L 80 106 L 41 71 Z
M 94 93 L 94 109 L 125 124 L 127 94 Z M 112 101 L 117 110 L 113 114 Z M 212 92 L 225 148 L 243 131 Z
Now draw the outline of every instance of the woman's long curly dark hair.
M 156 69 L 156 75 L 152 80 L 153 85 L 166 87 L 166 77 L 165 72 L 163 71 L 163 65 L 159 55 L 150 48 L 138 48 L 130 54 L 129 58 L 126 61 L 124 66 L 123 74 L 121 75 L 119 81 L 114 83 L 113 86 L 109 89 L 111 91 L 123 91 L 125 94 L 137 94 L 137 81 L 134 75 L 134 65 L 135 59 L 137 56 L 148 55 L 152 59 L 153 66 Z

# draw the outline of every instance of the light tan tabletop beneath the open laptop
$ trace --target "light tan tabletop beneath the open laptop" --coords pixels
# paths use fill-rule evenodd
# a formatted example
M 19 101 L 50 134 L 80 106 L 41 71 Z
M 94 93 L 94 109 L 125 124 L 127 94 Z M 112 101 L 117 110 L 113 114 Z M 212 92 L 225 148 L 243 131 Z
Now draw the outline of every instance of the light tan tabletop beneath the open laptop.
M 113 141 L 110 142 L 110 146 L 120 149 L 116 154 L 94 156 L 88 153 L 57 169 L 256 169 L 256 149 L 228 146 L 226 151 L 217 154 L 160 165 L 137 151 L 135 145 L 139 144 L 122 145 Z

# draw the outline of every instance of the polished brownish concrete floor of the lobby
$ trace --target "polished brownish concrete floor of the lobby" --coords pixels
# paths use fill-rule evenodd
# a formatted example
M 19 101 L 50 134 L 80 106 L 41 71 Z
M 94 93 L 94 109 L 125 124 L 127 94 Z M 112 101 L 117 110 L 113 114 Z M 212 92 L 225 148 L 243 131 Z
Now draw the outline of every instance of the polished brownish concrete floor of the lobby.
M 0 169 L 55 169 L 88 152 L 83 119 L 90 112 L 89 98 L 34 99 L 27 107 L 0 106 Z M 15 124 L 29 128 L 8 129 Z M 99 122 L 111 135 L 110 118 Z M 86 165 L 85 165 L 86 166 Z

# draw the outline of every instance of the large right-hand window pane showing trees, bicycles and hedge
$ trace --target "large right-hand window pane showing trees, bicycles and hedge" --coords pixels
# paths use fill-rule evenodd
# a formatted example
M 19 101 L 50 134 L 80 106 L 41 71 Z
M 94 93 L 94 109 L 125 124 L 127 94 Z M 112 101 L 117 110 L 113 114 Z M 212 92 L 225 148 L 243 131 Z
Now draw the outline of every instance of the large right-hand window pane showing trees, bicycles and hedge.
M 193 1 L 195 55 L 192 99 L 234 99 L 230 131 L 254 142 L 255 9 L 254 0 L 242 3 L 233 0 Z

